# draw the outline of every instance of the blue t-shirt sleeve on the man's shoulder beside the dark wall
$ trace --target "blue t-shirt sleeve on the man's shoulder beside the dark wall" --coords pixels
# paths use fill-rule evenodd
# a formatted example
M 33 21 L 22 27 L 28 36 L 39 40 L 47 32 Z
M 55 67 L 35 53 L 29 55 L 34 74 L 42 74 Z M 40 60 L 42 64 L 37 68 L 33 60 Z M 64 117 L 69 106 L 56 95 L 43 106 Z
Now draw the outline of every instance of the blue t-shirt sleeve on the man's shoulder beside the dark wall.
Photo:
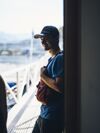
M 53 78 L 64 76 L 64 59 L 63 55 L 58 55 L 52 65 Z

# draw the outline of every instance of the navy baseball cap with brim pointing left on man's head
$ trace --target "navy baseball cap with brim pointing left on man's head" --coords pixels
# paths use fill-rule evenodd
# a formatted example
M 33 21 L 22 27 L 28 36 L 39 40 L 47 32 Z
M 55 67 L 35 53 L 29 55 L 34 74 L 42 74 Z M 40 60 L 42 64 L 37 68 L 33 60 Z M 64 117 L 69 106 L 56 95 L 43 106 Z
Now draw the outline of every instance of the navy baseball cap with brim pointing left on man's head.
M 45 26 L 40 34 L 34 35 L 34 38 L 42 38 L 44 36 L 50 36 L 52 38 L 59 38 L 59 31 L 54 26 Z

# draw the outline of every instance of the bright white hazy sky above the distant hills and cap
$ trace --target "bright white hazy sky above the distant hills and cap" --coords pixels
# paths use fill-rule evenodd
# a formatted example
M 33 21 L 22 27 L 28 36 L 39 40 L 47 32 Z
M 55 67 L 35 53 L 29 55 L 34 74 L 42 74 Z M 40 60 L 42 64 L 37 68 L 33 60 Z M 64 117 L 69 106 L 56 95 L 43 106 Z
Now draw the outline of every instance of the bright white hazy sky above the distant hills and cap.
M 40 32 L 45 25 L 63 25 L 63 0 L 0 0 L 0 31 Z

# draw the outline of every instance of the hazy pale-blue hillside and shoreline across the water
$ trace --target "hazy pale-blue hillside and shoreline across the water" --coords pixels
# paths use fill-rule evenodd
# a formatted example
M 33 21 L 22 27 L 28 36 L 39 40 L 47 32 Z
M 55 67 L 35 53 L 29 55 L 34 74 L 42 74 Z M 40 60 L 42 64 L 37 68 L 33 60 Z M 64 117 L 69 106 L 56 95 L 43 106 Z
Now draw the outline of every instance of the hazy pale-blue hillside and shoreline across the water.
M 0 54 L 2 51 L 10 51 L 11 54 L 27 54 L 32 49 L 32 52 L 40 53 L 43 51 L 40 41 L 32 38 L 30 34 L 11 35 L 0 32 Z

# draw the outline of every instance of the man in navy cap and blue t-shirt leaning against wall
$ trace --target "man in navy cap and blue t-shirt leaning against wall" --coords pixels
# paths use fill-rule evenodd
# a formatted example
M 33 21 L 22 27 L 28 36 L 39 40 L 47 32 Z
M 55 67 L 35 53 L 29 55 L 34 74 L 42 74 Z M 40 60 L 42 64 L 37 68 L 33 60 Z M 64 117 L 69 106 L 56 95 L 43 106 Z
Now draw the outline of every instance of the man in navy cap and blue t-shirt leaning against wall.
M 44 50 L 51 54 L 47 67 L 42 67 L 40 70 L 40 78 L 59 96 L 49 104 L 42 103 L 40 116 L 32 133 L 62 133 L 64 126 L 64 60 L 63 52 L 59 47 L 59 31 L 54 26 L 45 26 L 40 34 L 34 35 L 34 38 L 40 38 Z M 45 74 L 45 69 L 47 69 L 48 75 Z

